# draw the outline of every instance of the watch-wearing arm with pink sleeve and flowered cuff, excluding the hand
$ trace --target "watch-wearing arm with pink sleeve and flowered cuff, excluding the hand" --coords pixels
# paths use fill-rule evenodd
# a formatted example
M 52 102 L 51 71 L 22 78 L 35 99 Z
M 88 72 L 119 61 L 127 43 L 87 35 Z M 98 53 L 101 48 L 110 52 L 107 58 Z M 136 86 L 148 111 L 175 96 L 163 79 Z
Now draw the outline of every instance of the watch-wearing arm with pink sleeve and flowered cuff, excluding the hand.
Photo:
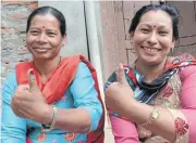
M 171 142 L 187 139 L 189 143 L 194 143 L 196 142 L 196 117 L 194 116 L 196 115 L 196 66 L 184 67 L 181 76 L 183 81 L 181 92 L 183 109 L 160 108 L 158 119 L 146 128 Z M 154 107 L 137 102 L 128 108 L 130 114 L 128 112 L 123 114 L 137 123 L 149 120 L 150 113 L 154 110 Z

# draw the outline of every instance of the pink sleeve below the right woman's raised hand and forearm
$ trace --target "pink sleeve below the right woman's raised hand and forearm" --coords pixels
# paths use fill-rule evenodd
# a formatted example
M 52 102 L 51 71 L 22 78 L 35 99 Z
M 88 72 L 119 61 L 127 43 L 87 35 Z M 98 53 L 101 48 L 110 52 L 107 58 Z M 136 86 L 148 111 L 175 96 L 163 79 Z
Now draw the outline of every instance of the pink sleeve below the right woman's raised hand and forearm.
M 115 143 L 139 143 L 138 133 L 133 122 L 110 115 Z

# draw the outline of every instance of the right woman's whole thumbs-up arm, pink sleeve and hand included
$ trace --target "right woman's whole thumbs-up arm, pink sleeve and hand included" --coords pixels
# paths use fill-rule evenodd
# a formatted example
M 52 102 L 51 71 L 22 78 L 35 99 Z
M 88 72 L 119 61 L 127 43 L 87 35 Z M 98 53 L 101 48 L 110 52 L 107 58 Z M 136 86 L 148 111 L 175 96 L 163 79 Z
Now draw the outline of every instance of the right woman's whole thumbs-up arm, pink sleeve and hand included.
M 183 77 L 183 90 L 181 99 L 183 109 L 168 109 L 160 107 L 158 109 L 158 118 L 155 119 L 150 125 L 146 125 L 146 129 L 150 130 L 155 134 L 163 136 L 170 142 L 179 141 L 183 143 L 188 141 L 187 135 L 189 132 L 189 141 L 195 142 L 194 135 L 196 134 L 196 132 L 195 129 L 193 129 L 196 126 L 194 122 L 195 118 L 191 117 L 196 114 L 195 68 L 196 67 L 193 66 L 191 69 L 192 73 L 188 73 L 188 76 Z M 135 101 L 133 98 L 134 93 L 125 81 L 124 73 L 118 70 L 117 74 L 119 78 L 118 82 L 111 84 L 106 90 L 107 106 L 111 110 L 120 114 L 123 117 L 126 117 L 127 119 L 136 122 L 137 125 L 150 120 L 151 113 L 156 113 L 154 107 Z M 187 86 L 187 82 L 191 82 L 191 84 Z

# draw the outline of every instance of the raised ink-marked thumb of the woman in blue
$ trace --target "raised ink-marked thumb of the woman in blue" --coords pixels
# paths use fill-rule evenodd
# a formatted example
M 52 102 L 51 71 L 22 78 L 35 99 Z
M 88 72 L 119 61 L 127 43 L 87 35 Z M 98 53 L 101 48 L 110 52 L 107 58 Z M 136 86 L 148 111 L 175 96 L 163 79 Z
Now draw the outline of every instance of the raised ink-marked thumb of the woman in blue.
M 36 76 L 33 68 L 30 68 L 27 72 L 27 78 L 28 78 L 29 91 L 33 92 L 33 91 L 38 90 L 37 80 L 36 80 Z

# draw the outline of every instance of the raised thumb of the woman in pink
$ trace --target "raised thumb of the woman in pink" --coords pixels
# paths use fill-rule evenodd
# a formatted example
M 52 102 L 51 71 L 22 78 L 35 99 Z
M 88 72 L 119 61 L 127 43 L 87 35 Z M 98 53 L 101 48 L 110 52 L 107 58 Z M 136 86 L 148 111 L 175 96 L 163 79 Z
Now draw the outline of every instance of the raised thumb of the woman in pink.
M 117 81 L 120 84 L 127 84 L 125 74 L 124 74 L 124 69 L 123 69 L 123 65 L 121 63 L 119 64 L 118 70 L 117 70 Z

